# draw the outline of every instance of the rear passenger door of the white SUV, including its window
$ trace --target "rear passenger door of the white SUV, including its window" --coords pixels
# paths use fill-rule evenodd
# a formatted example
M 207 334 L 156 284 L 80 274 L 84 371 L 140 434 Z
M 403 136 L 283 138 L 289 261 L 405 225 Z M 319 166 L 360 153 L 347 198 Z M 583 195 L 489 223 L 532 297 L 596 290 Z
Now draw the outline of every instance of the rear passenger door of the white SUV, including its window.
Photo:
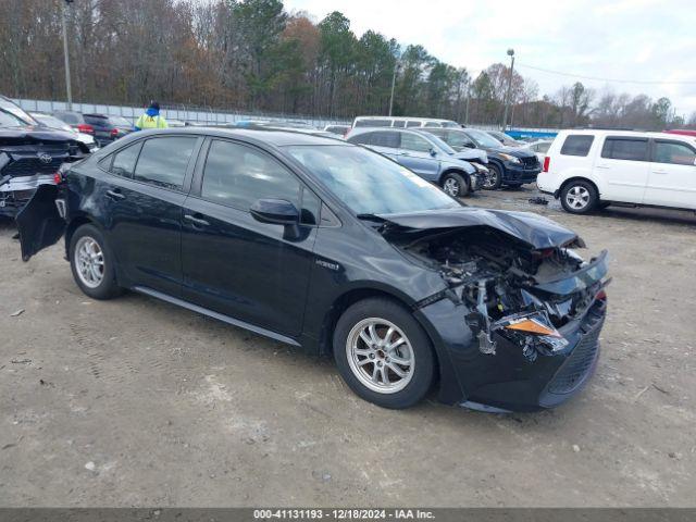
M 648 138 L 607 136 L 595 161 L 595 175 L 601 179 L 601 199 L 642 203 L 648 184 Z

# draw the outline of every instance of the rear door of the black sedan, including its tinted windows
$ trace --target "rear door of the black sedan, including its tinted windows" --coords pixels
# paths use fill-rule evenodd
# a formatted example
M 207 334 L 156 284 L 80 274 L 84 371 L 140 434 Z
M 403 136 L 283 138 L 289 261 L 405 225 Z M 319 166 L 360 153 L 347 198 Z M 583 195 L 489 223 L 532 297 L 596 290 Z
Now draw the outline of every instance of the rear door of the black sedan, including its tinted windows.
M 192 177 L 198 136 L 158 136 L 111 154 L 99 198 L 107 239 L 126 286 L 178 297 L 182 207 Z M 104 161 L 104 160 L 102 160 Z

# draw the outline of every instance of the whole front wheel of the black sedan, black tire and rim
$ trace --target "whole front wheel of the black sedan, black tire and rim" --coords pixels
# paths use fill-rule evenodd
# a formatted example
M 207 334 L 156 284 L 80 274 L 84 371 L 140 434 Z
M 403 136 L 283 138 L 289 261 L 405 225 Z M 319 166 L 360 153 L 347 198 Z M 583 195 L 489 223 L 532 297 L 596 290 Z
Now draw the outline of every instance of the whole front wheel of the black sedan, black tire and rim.
M 353 356 L 352 339 L 357 339 L 358 351 L 366 352 L 371 350 L 364 341 L 364 337 L 359 335 L 365 331 L 364 328 L 368 328 L 365 323 L 371 322 L 371 320 L 376 320 L 377 323 L 380 321 L 386 321 L 398 328 L 395 330 L 395 333 L 386 340 L 396 341 L 402 334 L 407 341 L 396 349 L 380 348 L 372 350 L 370 356 Z M 380 340 L 385 340 L 383 336 L 386 335 L 386 326 L 387 325 L 375 327 Z M 408 348 L 409 346 L 410 349 Z M 433 355 L 430 338 L 411 312 L 393 300 L 386 298 L 370 298 L 358 301 L 349 307 L 339 318 L 336 328 L 334 330 L 333 348 L 338 372 L 350 389 L 362 399 L 382 408 L 403 409 L 414 406 L 425 397 L 433 384 L 435 356 Z M 380 355 L 380 352 L 382 353 Z M 389 356 L 394 359 L 398 357 L 400 360 L 410 360 L 412 364 L 408 366 L 405 364 L 399 365 L 399 370 L 405 373 L 406 376 L 400 378 L 398 383 L 389 384 L 398 389 L 389 390 L 383 387 L 382 390 L 376 390 L 374 387 L 378 388 L 380 384 L 370 381 L 370 373 L 372 373 L 372 378 L 374 380 L 374 373 L 382 371 L 383 368 L 386 375 L 390 374 L 390 377 L 387 376 L 387 381 L 393 377 L 399 377 L 399 375 L 389 370 L 395 368 L 394 359 L 390 361 Z M 364 359 L 360 361 L 360 365 L 357 362 L 358 357 L 364 357 Z M 371 358 L 372 362 L 365 361 L 368 358 Z M 377 369 L 377 364 L 382 368 Z M 369 365 L 371 366 L 368 368 Z M 361 372 L 364 372 L 364 375 Z M 382 380 L 380 374 L 377 374 L 377 380 Z M 371 389 L 363 381 L 369 381 L 373 388 Z M 385 385 L 383 384 L 383 386 Z M 399 388 L 399 386 L 402 387 Z

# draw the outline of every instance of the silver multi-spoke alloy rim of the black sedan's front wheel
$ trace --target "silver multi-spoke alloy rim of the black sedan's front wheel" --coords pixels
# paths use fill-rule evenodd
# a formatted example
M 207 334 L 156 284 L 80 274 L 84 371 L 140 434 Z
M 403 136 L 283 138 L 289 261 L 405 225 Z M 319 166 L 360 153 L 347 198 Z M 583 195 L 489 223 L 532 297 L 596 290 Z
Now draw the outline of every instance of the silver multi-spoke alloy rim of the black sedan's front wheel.
M 396 394 L 413 377 L 415 357 L 409 339 L 390 321 L 368 318 L 356 324 L 346 341 L 348 364 L 369 389 Z

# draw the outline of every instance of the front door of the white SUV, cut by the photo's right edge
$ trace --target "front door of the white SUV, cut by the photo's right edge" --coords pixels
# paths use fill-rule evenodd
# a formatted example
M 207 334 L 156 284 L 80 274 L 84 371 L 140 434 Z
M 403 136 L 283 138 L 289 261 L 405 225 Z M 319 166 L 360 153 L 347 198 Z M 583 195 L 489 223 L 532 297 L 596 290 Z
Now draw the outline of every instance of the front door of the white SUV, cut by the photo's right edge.
M 646 204 L 696 209 L 696 149 L 684 141 L 656 139 Z

